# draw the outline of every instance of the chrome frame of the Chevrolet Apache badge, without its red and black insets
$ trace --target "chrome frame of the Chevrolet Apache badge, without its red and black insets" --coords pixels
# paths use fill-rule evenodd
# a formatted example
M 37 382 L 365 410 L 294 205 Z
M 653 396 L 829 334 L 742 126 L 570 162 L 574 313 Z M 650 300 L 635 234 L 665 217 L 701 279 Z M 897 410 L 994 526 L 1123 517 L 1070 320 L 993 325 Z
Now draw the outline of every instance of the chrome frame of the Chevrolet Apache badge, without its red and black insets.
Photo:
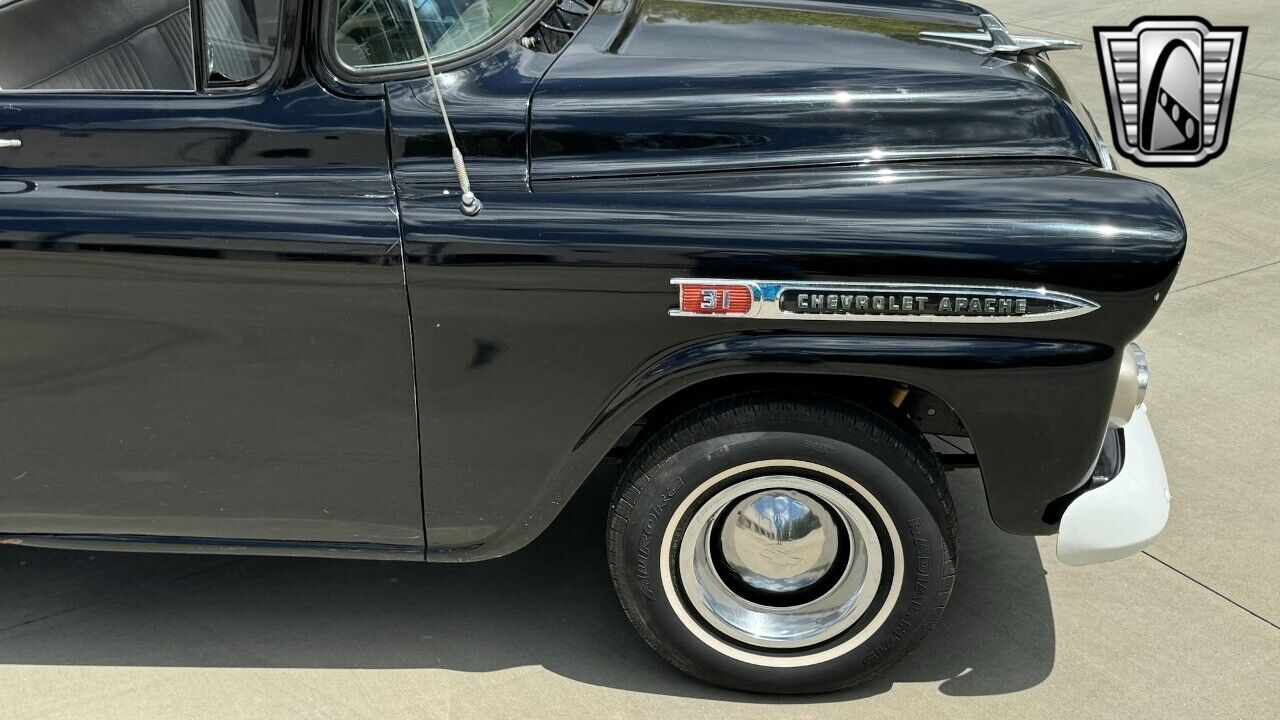
M 1014 287 L 1014 286 L 983 286 L 983 284 L 946 284 L 946 283 L 893 283 L 893 282 L 804 282 L 804 281 L 742 281 L 723 278 L 672 278 L 675 286 L 739 286 L 751 291 L 751 309 L 742 314 L 710 314 L 687 313 L 680 309 L 680 295 L 677 293 L 677 306 L 668 310 L 672 318 L 750 318 L 758 320 L 845 320 L 855 323 L 1043 323 L 1050 320 L 1062 320 L 1085 315 L 1101 307 L 1092 300 L 1046 290 L 1043 287 Z M 873 314 L 873 313 L 796 313 L 782 306 L 783 293 L 788 291 L 804 291 L 808 293 L 852 293 L 852 295 L 922 295 L 922 296 L 956 296 L 956 297 L 982 297 L 1000 300 L 1027 300 L 1048 302 L 1060 306 L 1053 310 L 1028 313 L 1025 315 L 959 315 L 936 311 L 931 314 Z

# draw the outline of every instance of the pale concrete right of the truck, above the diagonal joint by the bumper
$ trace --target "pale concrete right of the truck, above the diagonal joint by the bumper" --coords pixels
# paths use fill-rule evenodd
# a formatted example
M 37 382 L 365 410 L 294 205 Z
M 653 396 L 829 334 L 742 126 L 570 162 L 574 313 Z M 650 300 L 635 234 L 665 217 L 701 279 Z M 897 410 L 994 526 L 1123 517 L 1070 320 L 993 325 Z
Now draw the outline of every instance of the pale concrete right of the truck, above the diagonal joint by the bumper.
M 1001 8 L 1000 5 L 1006 5 Z M 1148 397 L 1165 452 L 1175 509 L 1148 552 L 1243 607 L 1280 623 L 1280 4 L 1183 0 L 989 4 L 1024 32 L 1085 41 L 1057 53 L 1066 76 L 1100 123 L 1106 117 L 1094 26 L 1126 26 L 1142 15 L 1207 15 L 1244 24 L 1249 35 L 1226 152 L 1194 169 L 1123 170 L 1164 184 L 1178 201 L 1190 245 L 1174 291 L 1139 338 L 1152 363 Z

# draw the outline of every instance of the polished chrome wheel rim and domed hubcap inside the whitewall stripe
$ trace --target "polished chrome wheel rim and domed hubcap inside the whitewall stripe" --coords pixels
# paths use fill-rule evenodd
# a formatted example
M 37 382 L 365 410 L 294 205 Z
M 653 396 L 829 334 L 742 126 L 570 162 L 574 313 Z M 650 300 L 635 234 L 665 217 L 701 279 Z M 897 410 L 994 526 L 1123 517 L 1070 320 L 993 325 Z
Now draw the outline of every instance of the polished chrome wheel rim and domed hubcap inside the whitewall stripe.
M 735 483 L 690 518 L 678 582 L 714 630 L 795 650 L 852 626 L 876 596 L 884 562 L 876 527 L 849 496 L 796 475 Z

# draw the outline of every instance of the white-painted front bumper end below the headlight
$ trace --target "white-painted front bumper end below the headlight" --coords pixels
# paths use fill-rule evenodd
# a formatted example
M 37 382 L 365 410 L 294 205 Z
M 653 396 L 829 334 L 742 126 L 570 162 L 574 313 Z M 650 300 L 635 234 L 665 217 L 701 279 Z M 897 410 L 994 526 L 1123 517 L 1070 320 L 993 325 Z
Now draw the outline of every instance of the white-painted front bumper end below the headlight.
M 1146 405 L 1134 410 L 1123 432 L 1120 473 L 1073 500 L 1062 514 L 1057 559 L 1066 565 L 1133 555 L 1151 544 L 1169 521 L 1169 478 Z

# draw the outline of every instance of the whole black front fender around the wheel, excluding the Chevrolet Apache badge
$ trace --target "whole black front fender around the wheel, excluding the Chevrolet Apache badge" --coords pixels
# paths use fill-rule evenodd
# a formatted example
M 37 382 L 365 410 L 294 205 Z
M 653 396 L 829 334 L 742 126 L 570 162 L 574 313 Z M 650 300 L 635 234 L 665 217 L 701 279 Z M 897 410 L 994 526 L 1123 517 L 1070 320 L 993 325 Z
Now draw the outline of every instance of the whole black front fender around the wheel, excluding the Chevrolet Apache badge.
M 927 388 L 973 436 L 991 514 L 1050 533 L 1091 469 L 1119 355 L 1185 247 L 1169 195 L 1079 163 L 539 182 L 406 202 L 431 559 L 509 552 L 627 428 L 696 383 L 827 373 Z M 673 318 L 672 278 L 998 284 L 1097 310 L 1033 323 Z M 980 337 L 979 337 L 980 336 Z

